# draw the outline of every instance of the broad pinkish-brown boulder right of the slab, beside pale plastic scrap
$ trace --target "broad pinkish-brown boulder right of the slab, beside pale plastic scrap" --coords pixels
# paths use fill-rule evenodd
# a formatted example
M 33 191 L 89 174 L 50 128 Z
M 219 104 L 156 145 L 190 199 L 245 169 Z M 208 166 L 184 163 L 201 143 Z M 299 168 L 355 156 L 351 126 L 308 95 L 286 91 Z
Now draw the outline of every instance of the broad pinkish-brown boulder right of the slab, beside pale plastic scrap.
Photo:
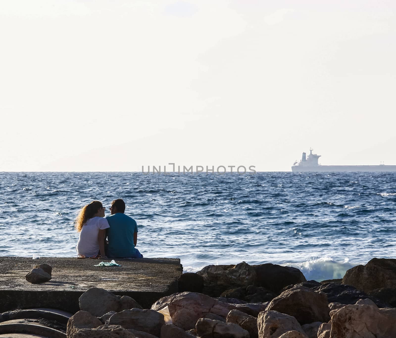
M 234 305 L 195 292 L 174 293 L 162 297 L 152 305 L 151 309 L 158 311 L 165 306 L 168 306 L 173 324 L 186 331 L 194 329 L 198 319 L 209 312 L 226 318 L 228 312 L 236 309 Z

